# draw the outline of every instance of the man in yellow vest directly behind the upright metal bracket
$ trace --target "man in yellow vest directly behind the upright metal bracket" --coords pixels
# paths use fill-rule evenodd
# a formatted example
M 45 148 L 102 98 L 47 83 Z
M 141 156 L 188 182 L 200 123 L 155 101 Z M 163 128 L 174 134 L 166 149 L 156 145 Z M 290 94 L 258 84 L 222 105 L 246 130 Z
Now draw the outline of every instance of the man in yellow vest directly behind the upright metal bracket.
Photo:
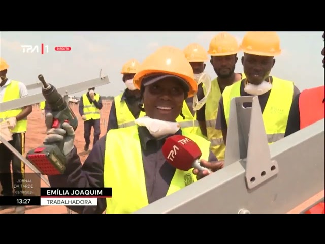
M 222 130 L 226 143 L 230 102 L 235 97 L 257 95 L 269 144 L 284 137 L 289 110 L 299 89 L 294 82 L 270 76 L 280 55 L 280 38 L 276 32 L 247 32 L 241 43 L 245 79 L 224 89 L 219 102 L 216 129 Z M 251 105 L 245 105 L 251 106 Z

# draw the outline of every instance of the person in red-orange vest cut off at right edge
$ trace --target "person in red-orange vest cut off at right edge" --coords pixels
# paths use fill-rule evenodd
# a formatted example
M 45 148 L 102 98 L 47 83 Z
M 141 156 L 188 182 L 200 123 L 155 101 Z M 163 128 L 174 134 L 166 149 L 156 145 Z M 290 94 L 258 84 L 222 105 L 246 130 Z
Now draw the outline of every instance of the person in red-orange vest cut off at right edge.
M 323 33 L 323 38 L 324 38 Z M 321 50 L 324 56 L 324 48 Z M 324 58 L 323 58 L 324 67 Z M 325 86 L 321 85 L 311 89 L 305 89 L 298 94 L 291 104 L 288 123 L 284 136 L 289 136 L 307 126 L 310 126 L 325 117 Z M 307 214 L 324 214 L 324 202 L 320 202 L 310 208 Z

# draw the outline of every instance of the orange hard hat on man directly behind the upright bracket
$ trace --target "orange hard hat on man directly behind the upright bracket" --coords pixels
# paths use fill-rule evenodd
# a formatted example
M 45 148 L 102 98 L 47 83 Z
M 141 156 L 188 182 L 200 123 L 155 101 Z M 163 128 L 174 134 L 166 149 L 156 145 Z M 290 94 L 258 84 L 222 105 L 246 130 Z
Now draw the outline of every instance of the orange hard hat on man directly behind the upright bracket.
M 276 32 L 247 32 L 240 46 L 244 53 L 252 55 L 274 57 L 281 54 Z

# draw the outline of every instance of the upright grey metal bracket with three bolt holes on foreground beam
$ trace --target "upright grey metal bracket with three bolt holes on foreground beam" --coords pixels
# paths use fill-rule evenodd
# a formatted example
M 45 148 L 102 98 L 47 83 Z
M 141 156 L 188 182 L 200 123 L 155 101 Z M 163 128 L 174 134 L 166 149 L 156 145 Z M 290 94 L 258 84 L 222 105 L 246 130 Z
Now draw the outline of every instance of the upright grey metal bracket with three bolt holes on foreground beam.
M 244 107 L 251 103 L 251 107 Z M 253 189 L 279 172 L 271 160 L 261 106 L 257 96 L 232 99 L 225 150 L 225 166 L 241 161 L 248 189 Z

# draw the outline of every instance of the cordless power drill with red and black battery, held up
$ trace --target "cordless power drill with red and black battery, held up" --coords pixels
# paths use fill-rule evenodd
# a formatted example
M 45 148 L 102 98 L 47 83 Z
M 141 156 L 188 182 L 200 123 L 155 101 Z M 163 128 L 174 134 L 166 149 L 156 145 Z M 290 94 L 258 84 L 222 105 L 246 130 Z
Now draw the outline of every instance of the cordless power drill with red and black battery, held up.
M 69 123 L 74 130 L 78 127 L 78 119 L 67 102 L 57 92 L 56 88 L 47 84 L 43 75 L 38 76 L 42 82 L 42 93 L 53 114 L 52 128 L 62 128 L 64 122 Z M 59 144 L 41 145 L 28 151 L 26 158 L 43 175 L 63 174 L 66 170 L 66 156 L 63 154 L 64 141 Z

